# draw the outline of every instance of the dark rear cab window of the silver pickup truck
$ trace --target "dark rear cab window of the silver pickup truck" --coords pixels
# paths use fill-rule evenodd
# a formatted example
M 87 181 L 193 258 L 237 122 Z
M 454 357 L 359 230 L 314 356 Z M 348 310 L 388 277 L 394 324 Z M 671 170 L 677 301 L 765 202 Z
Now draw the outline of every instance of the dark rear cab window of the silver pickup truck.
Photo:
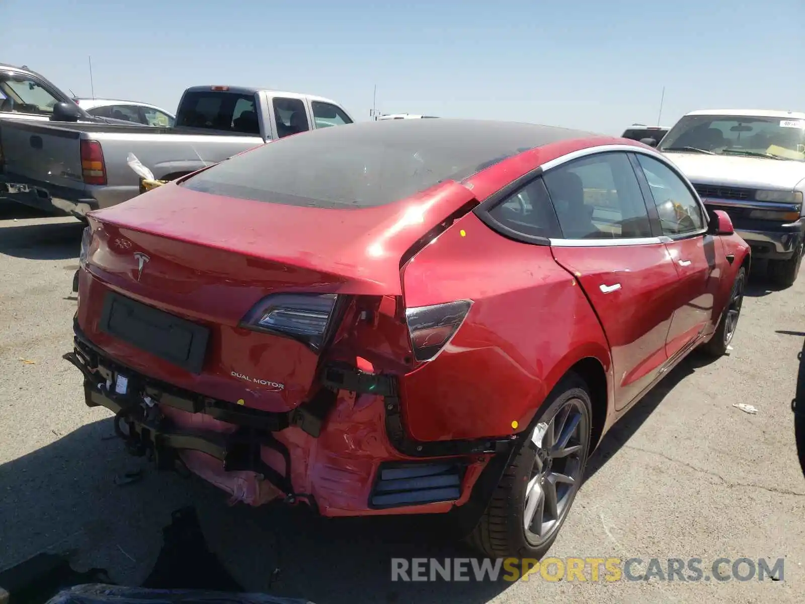
M 187 93 L 182 99 L 178 126 L 260 134 L 253 94 L 218 91 Z

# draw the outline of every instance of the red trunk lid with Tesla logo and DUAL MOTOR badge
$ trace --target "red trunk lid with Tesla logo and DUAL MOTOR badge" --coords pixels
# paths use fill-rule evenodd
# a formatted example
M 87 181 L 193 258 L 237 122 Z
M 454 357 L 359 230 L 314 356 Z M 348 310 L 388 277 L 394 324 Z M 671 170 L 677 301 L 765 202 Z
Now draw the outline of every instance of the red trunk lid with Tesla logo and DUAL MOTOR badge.
M 365 209 L 247 201 L 166 184 L 89 215 L 95 279 L 80 292 L 79 325 L 114 358 L 155 379 L 286 411 L 308 398 L 323 351 L 240 327 L 250 309 L 277 293 L 399 296 L 399 267 L 411 247 L 470 205 L 473 193 L 452 181 Z M 163 345 L 172 333 L 184 346 L 183 338 L 195 336 L 180 321 L 167 325 L 164 316 L 151 321 L 122 308 L 141 321 L 138 333 L 110 335 L 110 293 L 206 328 L 200 369 L 166 363 L 138 341 L 138 333 L 163 329 Z

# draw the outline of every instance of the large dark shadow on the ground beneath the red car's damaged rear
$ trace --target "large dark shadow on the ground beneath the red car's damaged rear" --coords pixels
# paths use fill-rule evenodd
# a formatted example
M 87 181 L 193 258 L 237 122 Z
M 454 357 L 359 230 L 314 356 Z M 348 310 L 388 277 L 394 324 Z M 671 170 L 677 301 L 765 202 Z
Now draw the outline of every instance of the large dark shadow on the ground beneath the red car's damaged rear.
M 75 552 L 76 569 L 99 567 L 139 585 L 151 571 L 171 511 L 196 507 L 208 548 L 247 591 L 349 602 L 487 602 L 510 585 L 476 581 L 391 581 L 391 559 L 472 558 L 438 517 L 322 519 L 306 508 L 229 507 L 199 478 L 150 470 L 111 439 L 111 419 L 0 465 L 0 569 L 37 552 Z M 142 481 L 118 486 L 132 467 Z M 469 566 L 469 564 L 468 564 Z M 272 573 L 279 567 L 279 579 Z M 502 573 L 503 574 L 503 573 Z

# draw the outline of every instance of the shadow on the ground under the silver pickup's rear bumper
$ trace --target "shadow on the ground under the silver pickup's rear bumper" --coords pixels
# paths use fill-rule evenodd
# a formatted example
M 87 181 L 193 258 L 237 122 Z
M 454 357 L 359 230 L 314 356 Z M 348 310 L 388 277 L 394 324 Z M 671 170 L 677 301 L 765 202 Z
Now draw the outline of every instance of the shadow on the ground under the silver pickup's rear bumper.
M 0 254 L 31 260 L 77 258 L 84 225 L 74 218 L 23 225 L 0 222 Z

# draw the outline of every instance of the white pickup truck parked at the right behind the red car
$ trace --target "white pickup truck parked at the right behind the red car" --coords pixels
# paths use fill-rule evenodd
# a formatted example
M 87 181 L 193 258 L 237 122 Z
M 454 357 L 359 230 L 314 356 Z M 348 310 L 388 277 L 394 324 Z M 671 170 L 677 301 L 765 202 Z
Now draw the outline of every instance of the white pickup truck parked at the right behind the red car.
M 805 113 L 698 110 L 683 116 L 658 150 L 704 205 L 729 214 L 735 232 L 790 287 L 805 253 Z

